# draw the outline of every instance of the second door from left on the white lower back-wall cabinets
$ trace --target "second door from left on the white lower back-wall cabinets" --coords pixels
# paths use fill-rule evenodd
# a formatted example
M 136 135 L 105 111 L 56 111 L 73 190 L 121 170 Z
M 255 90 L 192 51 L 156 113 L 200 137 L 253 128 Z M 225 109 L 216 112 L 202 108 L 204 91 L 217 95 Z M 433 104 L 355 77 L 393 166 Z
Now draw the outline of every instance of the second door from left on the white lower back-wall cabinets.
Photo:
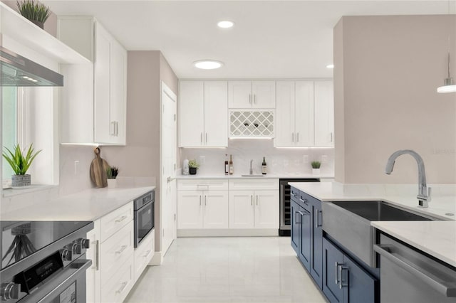
M 228 228 L 228 191 L 204 192 L 204 228 Z

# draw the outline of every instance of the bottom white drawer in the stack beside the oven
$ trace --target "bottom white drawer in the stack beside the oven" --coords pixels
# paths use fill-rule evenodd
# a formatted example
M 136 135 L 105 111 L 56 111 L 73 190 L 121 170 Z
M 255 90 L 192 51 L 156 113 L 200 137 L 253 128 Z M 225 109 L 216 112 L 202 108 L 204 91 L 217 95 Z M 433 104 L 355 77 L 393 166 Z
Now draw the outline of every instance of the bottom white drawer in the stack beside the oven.
M 110 277 L 106 285 L 101 287 L 101 302 L 115 303 L 123 302 L 128 292 L 135 284 L 133 277 L 133 258 L 125 260 L 118 272 Z

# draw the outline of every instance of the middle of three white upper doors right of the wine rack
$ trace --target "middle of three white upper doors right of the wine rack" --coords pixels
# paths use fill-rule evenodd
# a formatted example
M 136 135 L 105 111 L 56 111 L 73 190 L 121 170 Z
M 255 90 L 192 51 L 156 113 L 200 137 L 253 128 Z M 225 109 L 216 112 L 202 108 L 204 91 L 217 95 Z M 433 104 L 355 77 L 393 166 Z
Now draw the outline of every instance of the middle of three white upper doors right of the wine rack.
M 314 145 L 314 82 L 296 81 L 295 146 Z

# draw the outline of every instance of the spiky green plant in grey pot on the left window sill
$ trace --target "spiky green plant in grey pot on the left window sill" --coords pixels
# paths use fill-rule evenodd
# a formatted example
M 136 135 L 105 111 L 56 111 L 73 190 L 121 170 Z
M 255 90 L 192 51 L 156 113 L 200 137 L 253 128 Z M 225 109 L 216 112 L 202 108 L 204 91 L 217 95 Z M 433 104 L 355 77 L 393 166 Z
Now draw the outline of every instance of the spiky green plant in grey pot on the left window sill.
M 3 157 L 14 171 L 14 175 L 11 176 L 11 186 L 24 187 L 31 185 L 31 176 L 26 174 L 26 172 L 35 157 L 41 152 L 41 149 L 35 152 L 33 144 L 30 144 L 27 153 L 25 153 L 25 150 L 24 153 L 21 151 L 19 144 L 14 147 L 13 151 L 9 150 L 8 147 L 4 147 L 4 149 L 8 152 L 4 151 L 2 153 Z

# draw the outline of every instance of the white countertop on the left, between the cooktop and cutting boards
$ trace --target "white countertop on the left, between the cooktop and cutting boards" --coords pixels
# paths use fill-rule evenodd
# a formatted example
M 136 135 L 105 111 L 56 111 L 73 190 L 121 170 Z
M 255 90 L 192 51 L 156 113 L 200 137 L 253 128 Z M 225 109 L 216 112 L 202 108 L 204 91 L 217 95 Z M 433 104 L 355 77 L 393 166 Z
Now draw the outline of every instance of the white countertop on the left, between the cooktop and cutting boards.
M 91 188 L 14 211 L 1 209 L 1 220 L 96 220 L 133 201 L 155 186 Z

